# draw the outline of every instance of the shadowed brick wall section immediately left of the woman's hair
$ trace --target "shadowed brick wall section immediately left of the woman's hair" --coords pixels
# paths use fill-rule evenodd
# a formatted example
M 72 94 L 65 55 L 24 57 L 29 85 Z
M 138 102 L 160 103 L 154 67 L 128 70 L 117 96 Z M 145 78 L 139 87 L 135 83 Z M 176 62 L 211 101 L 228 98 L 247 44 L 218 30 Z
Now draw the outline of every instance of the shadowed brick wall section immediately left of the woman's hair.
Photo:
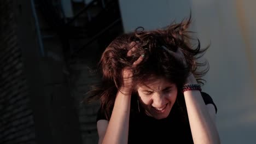
M 91 85 L 98 81 L 98 78 L 90 73 L 90 69 L 96 65 L 98 61 L 97 44 L 87 47 L 87 52 L 84 52 L 82 57 L 73 59 L 73 64 L 69 65 L 71 83 L 71 91 L 76 99 L 77 111 L 79 116 L 80 132 L 82 135 L 83 143 L 97 143 L 98 134 L 96 127 L 96 113 L 99 108 L 99 103 L 96 101 L 92 104 L 83 103 Z M 94 48 L 93 48 L 94 47 Z

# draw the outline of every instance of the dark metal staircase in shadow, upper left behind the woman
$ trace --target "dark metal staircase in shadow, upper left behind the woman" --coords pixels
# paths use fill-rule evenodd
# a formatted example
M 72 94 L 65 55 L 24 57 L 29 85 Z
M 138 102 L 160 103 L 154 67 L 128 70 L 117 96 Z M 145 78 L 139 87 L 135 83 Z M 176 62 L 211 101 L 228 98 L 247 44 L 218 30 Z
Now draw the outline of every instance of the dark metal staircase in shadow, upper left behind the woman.
M 63 52 L 67 59 L 86 51 L 86 47 L 98 40 L 104 33 L 114 38 L 123 32 L 118 0 L 71 1 L 73 16 L 66 16 L 61 0 L 31 0 L 34 5 L 37 32 L 44 55 L 44 39 L 61 39 Z M 40 16 L 38 16 L 40 15 Z M 43 20 L 42 20 L 43 19 Z M 40 23 L 40 24 L 39 24 Z M 43 24 L 42 24 L 43 23 Z M 108 32 L 111 29 L 112 32 Z M 113 30 L 114 29 L 114 30 Z M 114 31 L 114 33 L 113 33 Z M 101 45 L 106 46 L 110 40 Z

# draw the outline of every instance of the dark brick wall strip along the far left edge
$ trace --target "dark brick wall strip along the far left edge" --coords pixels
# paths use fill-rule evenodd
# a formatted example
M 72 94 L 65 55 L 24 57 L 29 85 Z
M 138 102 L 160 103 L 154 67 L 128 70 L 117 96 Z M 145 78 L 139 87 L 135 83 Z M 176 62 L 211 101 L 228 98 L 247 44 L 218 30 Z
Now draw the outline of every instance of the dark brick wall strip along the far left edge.
M 13 1 L 0 1 L 0 22 L 0 143 L 35 143 Z

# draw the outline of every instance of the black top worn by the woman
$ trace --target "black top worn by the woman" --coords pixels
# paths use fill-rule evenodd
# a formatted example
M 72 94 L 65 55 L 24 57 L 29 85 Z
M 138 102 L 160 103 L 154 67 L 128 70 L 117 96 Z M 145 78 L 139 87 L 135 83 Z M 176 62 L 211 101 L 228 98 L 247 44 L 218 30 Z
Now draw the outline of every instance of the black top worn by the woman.
M 217 107 L 210 95 L 201 92 L 205 104 Z M 176 102 L 167 118 L 155 119 L 147 116 L 142 107 L 138 111 L 137 98 L 132 97 L 129 121 L 128 143 L 194 143 L 189 125 L 184 95 L 179 93 Z M 107 119 L 102 109 L 97 113 L 96 121 Z

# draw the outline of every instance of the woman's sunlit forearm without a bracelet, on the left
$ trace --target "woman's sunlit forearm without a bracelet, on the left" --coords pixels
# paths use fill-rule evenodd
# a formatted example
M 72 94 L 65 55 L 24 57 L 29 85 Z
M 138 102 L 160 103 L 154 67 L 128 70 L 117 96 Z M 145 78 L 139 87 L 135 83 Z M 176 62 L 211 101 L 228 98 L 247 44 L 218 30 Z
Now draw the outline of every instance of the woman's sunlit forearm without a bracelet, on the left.
M 119 91 L 102 143 L 128 142 L 130 106 L 131 95 L 125 95 Z

